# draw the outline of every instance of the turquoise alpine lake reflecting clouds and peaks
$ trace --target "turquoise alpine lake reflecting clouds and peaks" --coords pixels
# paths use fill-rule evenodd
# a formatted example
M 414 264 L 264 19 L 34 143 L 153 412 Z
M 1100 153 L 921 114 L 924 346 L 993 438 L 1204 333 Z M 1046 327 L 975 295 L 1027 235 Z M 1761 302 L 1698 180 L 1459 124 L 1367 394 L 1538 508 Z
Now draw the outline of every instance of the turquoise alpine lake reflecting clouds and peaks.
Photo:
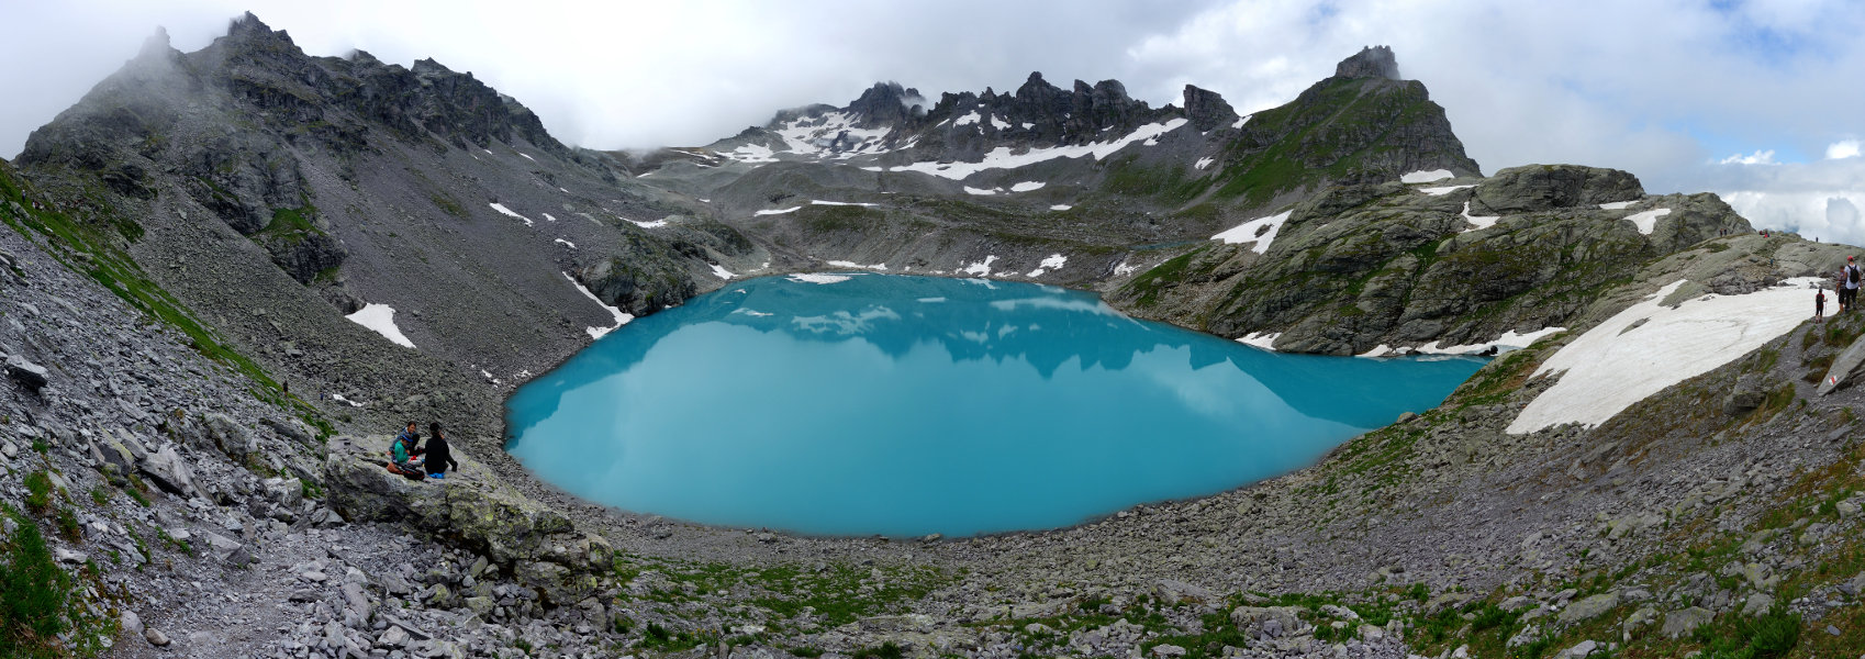
M 1306 467 L 1479 358 L 1279 355 L 1050 286 L 729 282 L 507 401 L 507 444 L 593 502 L 826 536 L 1069 526 Z

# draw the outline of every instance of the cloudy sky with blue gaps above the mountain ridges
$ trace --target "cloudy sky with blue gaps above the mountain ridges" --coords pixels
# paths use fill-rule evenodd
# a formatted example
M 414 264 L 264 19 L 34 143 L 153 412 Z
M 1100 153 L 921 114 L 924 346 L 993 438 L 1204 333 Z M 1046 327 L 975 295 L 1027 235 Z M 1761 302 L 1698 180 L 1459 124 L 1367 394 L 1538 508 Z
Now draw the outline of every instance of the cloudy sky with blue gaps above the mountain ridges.
M 157 26 L 194 50 L 248 9 L 311 54 L 472 71 L 587 147 L 705 144 L 877 80 L 936 97 L 1029 71 L 1153 105 L 1192 82 L 1250 112 L 1391 45 L 1485 172 L 1613 166 L 1865 245 L 1865 4 L 1844 0 L 0 0 L 0 155 Z

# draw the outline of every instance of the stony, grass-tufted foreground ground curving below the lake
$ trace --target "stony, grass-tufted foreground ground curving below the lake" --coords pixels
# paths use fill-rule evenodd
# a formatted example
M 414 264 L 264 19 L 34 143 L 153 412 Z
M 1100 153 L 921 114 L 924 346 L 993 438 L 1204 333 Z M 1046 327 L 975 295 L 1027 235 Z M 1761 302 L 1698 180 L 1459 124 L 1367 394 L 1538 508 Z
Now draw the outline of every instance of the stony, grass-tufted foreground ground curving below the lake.
M 1772 655 L 1783 629 L 1790 655 L 1865 652 L 1865 392 L 1811 385 L 1858 317 L 1595 429 L 1501 433 L 1557 338 L 1248 489 L 824 540 L 601 510 L 502 456 L 399 482 L 367 463 L 375 428 L 203 357 L 21 233 L 0 252 L 0 500 L 7 538 L 37 525 L 75 575 L 76 653 L 1660 657 Z

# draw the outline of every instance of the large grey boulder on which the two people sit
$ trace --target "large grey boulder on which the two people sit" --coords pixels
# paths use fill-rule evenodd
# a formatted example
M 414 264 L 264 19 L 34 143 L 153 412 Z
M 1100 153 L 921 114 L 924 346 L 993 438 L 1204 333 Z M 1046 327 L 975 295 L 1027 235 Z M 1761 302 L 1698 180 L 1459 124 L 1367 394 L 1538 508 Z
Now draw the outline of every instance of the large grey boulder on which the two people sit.
M 325 487 L 330 508 L 345 519 L 405 523 L 485 554 L 504 568 L 571 558 L 546 553 L 552 536 L 573 534 L 571 521 L 500 482 L 492 470 L 466 456 L 461 442 L 453 444 L 459 470 L 448 472 L 446 480 L 416 482 L 384 469 L 390 441 L 388 435 L 330 439 Z M 561 538 L 558 543 L 576 545 L 578 540 Z

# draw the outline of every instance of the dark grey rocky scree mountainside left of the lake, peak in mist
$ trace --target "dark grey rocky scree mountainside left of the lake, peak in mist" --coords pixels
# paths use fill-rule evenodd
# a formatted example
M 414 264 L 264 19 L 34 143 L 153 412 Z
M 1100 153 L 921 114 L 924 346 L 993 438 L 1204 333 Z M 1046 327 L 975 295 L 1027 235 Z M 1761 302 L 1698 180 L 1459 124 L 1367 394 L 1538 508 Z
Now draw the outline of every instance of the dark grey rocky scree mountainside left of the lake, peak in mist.
M 653 314 L 768 259 L 606 162 L 468 73 L 306 56 L 246 15 L 198 52 L 151 37 L 17 166 L 78 252 L 125 256 L 328 413 L 496 437 L 500 392 L 615 327 L 604 304 Z M 366 304 L 414 349 L 343 319 Z

